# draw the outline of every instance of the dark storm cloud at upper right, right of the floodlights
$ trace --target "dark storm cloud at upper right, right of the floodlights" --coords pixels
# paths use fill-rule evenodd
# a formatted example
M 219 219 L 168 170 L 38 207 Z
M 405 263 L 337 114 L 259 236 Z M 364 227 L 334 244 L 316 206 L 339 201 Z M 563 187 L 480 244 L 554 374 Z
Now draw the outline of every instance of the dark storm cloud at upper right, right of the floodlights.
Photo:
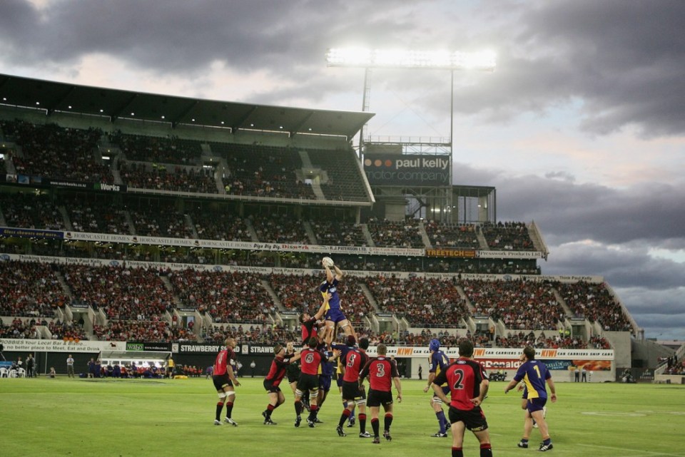
M 532 5 L 532 6 L 531 6 Z M 646 137 L 685 132 L 685 2 L 546 1 L 492 32 L 497 74 L 457 93 L 460 110 L 494 119 L 582 100 L 581 127 Z

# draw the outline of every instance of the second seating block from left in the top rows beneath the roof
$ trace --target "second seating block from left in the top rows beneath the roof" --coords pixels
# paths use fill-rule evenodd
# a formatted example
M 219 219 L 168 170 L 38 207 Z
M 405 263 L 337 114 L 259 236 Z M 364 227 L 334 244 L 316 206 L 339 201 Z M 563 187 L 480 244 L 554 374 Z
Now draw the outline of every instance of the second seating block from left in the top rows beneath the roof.
M 109 140 L 113 145 L 118 146 L 127 160 L 196 165 L 202 155 L 202 146 L 199 141 L 184 140 L 176 136 L 163 138 L 129 135 L 117 130 L 109 136 Z

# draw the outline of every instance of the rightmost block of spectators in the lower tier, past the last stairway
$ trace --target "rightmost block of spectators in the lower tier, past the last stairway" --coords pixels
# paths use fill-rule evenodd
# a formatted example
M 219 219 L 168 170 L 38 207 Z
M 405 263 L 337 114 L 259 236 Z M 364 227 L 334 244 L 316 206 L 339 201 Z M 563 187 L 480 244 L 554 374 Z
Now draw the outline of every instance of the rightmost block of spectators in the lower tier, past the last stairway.
M 602 329 L 614 332 L 631 331 L 631 324 L 605 283 L 574 282 L 555 284 L 559 294 L 569 305 L 574 317 L 599 322 Z

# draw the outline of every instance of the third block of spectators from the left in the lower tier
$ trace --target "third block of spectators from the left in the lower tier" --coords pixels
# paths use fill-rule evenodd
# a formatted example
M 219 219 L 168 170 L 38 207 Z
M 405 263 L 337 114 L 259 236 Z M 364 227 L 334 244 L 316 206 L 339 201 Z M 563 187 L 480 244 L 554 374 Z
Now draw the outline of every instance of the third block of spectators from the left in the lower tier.
M 260 322 L 275 313 L 275 304 L 258 274 L 170 272 L 173 292 L 184 305 L 207 312 L 213 322 Z

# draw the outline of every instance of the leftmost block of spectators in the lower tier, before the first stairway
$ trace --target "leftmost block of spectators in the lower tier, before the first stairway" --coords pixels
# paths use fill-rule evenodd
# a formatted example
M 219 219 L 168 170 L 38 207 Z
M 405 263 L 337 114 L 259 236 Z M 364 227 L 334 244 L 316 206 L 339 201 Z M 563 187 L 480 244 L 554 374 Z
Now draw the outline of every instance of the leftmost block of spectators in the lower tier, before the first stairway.
M 68 296 L 53 265 L 39 262 L 0 262 L 0 316 L 53 317 Z

